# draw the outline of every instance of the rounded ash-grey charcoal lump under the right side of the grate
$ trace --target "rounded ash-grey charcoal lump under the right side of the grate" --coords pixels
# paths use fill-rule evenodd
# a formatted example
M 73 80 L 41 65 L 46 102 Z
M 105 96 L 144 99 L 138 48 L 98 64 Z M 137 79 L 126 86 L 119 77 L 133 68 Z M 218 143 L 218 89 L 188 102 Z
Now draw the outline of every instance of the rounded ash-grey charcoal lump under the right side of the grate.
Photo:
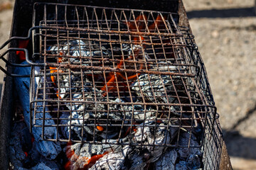
M 174 80 L 174 84 L 178 83 L 178 79 Z M 154 83 L 150 83 L 154 82 Z M 140 90 L 139 86 L 142 90 Z M 170 76 L 167 75 L 155 75 L 155 74 L 142 74 L 139 76 L 139 79 L 135 80 L 132 84 L 133 91 L 140 98 L 144 97 L 147 102 L 151 103 L 177 103 L 175 97 L 174 86 L 170 79 Z M 168 100 L 166 98 L 166 93 L 164 91 L 166 89 L 166 93 L 169 96 Z M 156 99 L 154 98 L 156 96 Z M 175 113 L 178 107 L 171 106 L 171 110 Z

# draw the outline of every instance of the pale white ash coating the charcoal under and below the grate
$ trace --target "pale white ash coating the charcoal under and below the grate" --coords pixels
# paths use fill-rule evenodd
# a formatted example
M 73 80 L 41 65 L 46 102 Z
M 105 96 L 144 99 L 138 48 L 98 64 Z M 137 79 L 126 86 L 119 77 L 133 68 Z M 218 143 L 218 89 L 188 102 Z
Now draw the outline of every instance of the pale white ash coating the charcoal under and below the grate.
M 69 46 L 69 47 L 68 47 Z M 101 48 L 101 50 L 100 50 Z M 140 45 L 123 45 L 122 52 L 127 55 L 130 60 L 144 59 L 149 60 L 149 55 L 144 52 L 144 49 Z M 72 40 L 70 42 L 60 42 L 60 46 L 53 46 L 49 48 L 49 51 L 55 55 L 62 55 L 61 62 L 63 64 L 82 64 L 91 65 L 91 58 L 101 58 L 102 55 L 110 57 L 110 53 L 107 52 L 105 47 L 100 47 L 93 42 L 83 42 L 82 40 Z M 72 57 L 70 57 L 72 56 Z M 79 58 L 81 57 L 81 59 Z M 133 57 L 136 57 L 134 59 Z M 124 59 L 125 60 L 125 59 Z M 128 67 L 132 67 L 129 65 Z M 137 65 L 137 69 L 140 67 L 146 67 Z M 61 68 L 60 68 L 61 69 Z M 149 68 L 154 70 L 156 68 Z M 161 71 L 177 70 L 176 67 L 159 67 Z M 77 70 L 62 69 L 61 72 L 70 72 L 71 76 L 60 75 L 58 77 L 58 86 L 55 86 L 55 91 L 59 91 L 57 94 L 62 99 L 62 103 L 65 103 L 64 108 L 68 108 L 68 111 L 60 113 L 60 118 L 66 118 L 61 120 L 60 124 L 67 125 L 62 128 L 62 135 L 66 138 L 71 134 L 78 136 L 82 140 L 94 140 L 99 142 L 116 143 L 117 136 L 121 133 L 124 134 L 129 128 L 124 128 L 120 131 L 119 128 L 103 128 L 98 130 L 95 128 L 95 120 L 97 119 L 109 119 L 108 123 L 120 124 L 119 120 L 127 125 L 130 124 L 130 120 L 139 119 L 143 120 L 144 123 L 138 121 L 139 125 L 136 126 L 135 130 L 130 130 L 128 136 L 132 140 L 133 144 L 142 144 L 142 147 L 114 147 L 114 145 L 89 145 L 89 144 L 73 144 L 65 147 L 64 152 L 70 155 L 70 169 L 81 169 L 90 163 L 92 155 L 105 154 L 103 157 L 97 160 L 91 169 L 145 169 L 149 164 L 154 164 L 156 169 L 182 169 L 188 168 L 196 169 L 201 166 L 200 149 L 166 149 L 165 147 L 157 147 L 157 145 L 165 145 L 171 143 L 177 135 L 178 128 L 166 128 L 160 126 L 166 126 L 167 124 L 178 125 L 178 121 L 161 120 L 156 125 L 156 107 L 154 106 L 143 106 L 143 105 L 127 105 L 127 102 L 143 103 L 142 98 L 145 99 L 146 103 L 178 103 L 175 88 L 182 89 L 181 77 L 171 77 L 166 75 L 155 75 L 155 74 L 140 74 L 139 79 L 135 80 L 131 84 L 131 96 L 124 96 L 123 98 L 116 97 L 109 98 L 108 102 L 114 104 L 95 104 L 87 103 L 87 101 L 94 101 L 94 98 L 101 98 L 100 101 L 107 101 L 106 98 L 102 97 L 102 91 L 100 88 L 94 88 L 93 82 L 90 77 L 86 74 L 78 75 L 75 74 Z M 57 79 L 57 77 L 55 77 Z M 99 79 L 102 79 L 99 78 Z M 49 86 L 50 77 L 47 79 Z M 83 86 L 82 83 L 83 82 Z M 151 83 L 150 82 L 154 82 Z M 50 91 L 49 91 L 50 92 Z M 156 96 L 156 97 L 154 97 Z M 76 101 L 77 103 L 69 102 L 70 100 Z M 109 108 L 107 108 L 109 107 Z M 63 108 L 63 109 L 64 109 Z M 180 116 L 178 113 L 179 107 L 176 106 L 159 106 L 159 111 L 171 109 L 171 116 Z M 64 109 L 65 110 L 65 109 Z M 95 118 L 95 120 L 90 120 Z M 71 120 L 71 121 L 70 121 Z M 98 121 L 97 123 L 105 124 L 106 121 Z M 134 123 L 137 123 L 134 121 Z M 147 126 L 148 125 L 148 126 Z M 155 128 L 149 127 L 149 125 L 156 125 Z M 71 128 L 70 128 L 71 127 Z M 82 134 L 83 132 L 83 134 Z M 128 131 L 129 132 L 129 131 Z M 190 135 L 181 133 L 179 145 L 187 145 Z M 121 135 L 119 142 L 129 142 L 129 137 Z M 75 137 L 74 137 L 75 138 Z M 191 135 L 191 145 L 196 145 L 196 137 Z M 146 145 L 156 145 L 146 146 Z M 107 149 L 108 148 L 108 149 Z M 54 148 L 53 148 L 54 149 Z M 164 158 L 163 158 L 164 157 Z M 177 161 L 178 160 L 178 161 Z M 127 166 L 127 162 L 129 166 Z M 167 164 L 167 163 L 170 164 Z M 186 164 L 184 163 L 186 162 Z M 124 167 L 127 166 L 127 167 Z

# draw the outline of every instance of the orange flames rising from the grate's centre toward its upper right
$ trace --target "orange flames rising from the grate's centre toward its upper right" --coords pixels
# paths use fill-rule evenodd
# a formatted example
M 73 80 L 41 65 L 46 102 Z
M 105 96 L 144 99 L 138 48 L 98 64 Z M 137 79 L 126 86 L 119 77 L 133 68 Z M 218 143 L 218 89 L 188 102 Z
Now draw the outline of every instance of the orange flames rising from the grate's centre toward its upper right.
M 164 19 L 166 19 L 166 18 L 164 18 Z M 128 22 L 127 26 L 129 28 L 129 30 L 132 30 L 132 31 L 139 30 L 139 32 L 142 32 L 142 30 L 144 30 L 146 28 L 146 21 L 147 21 L 147 17 L 146 16 L 139 15 L 139 16 L 137 16 L 135 22 Z M 154 21 L 154 23 L 152 23 L 148 27 L 149 28 L 149 32 L 151 32 L 151 31 L 155 30 L 156 28 L 158 28 L 159 26 L 163 25 L 162 23 L 164 23 L 164 21 L 161 18 L 161 16 L 160 15 L 157 16 L 156 20 Z M 140 42 L 140 41 L 144 41 L 144 40 L 145 40 L 145 38 L 142 35 L 135 36 L 133 38 L 134 42 Z M 134 54 L 135 56 L 138 56 L 139 55 L 139 50 L 137 50 L 137 51 L 135 50 L 134 53 L 135 53 Z M 133 59 L 134 59 L 134 57 L 132 55 L 130 55 L 125 60 L 133 60 Z M 122 68 L 123 64 L 124 64 L 124 60 L 121 60 L 119 62 L 119 64 L 117 64 L 117 69 Z M 139 69 L 143 69 L 143 67 L 144 67 L 143 64 L 140 64 Z M 102 96 L 105 97 L 107 95 L 107 92 L 116 91 L 117 90 L 118 79 L 122 79 L 124 81 L 126 81 L 126 80 L 133 81 L 134 79 L 137 78 L 137 76 L 139 76 L 139 73 L 131 75 L 131 76 L 127 77 L 127 78 L 124 76 L 124 74 L 119 73 L 119 72 L 117 72 L 116 74 L 110 73 L 109 76 L 107 77 L 107 84 L 105 84 L 105 86 L 103 86 L 102 89 L 101 89 L 102 91 L 105 91 L 105 93 L 102 94 Z M 120 84 L 120 85 L 126 86 L 126 84 Z

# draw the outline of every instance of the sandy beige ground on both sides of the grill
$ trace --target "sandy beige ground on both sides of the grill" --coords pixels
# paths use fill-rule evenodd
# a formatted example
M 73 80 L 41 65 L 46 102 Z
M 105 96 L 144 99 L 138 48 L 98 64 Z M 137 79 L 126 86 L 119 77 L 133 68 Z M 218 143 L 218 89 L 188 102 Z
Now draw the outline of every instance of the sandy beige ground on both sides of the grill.
M 0 1 L 0 44 L 9 38 L 12 18 L 12 8 L 1 8 L 4 2 Z M 13 6 L 14 1 L 9 2 Z M 254 0 L 183 3 L 206 64 L 233 169 L 256 169 Z

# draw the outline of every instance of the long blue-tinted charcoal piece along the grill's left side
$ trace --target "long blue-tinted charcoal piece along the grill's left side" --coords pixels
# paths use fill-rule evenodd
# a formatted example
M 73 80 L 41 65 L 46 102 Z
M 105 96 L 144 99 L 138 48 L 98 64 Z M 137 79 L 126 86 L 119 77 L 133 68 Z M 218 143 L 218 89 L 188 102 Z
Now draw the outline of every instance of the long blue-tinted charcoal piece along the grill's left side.
M 23 62 L 22 64 L 27 64 Z M 14 69 L 15 74 L 30 74 L 31 68 L 30 67 L 16 67 Z M 29 86 L 30 86 L 30 79 L 28 77 L 17 77 L 14 79 L 16 84 L 16 91 L 18 93 L 18 97 L 21 101 L 21 106 L 23 107 L 23 116 L 25 123 L 28 127 L 30 127 L 30 99 L 29 99 Z M 38 103 L 38 105 L 43 106 L 43 103 Z M 37 118 L 43 118 L 43 108 L 38 108 Z M 51 119 L 49 113 L 46 112 L 45 118 Z M 38 125 L 43 125 L 42 120 L 37 120 Z M 53 120 L 46 120 L 46 125 L 53 125 Z M 47 127 L 45 128 L 45 136 L 53 138 L 56 136 L 57 130 L 54 127 Z M 61 148 L 58 142 L 46 142 L 41 140 L 42 135 L 42 128 L 32 128 L 32 134 L 35 137 L 36 142 L 38 142 L 38 152 L 43 154 L 43 156 L 47 157 L 48 159 L 55 159 L 57 155 L 60 153 Z M 48 149 L 48 150 L 46 150 Z

